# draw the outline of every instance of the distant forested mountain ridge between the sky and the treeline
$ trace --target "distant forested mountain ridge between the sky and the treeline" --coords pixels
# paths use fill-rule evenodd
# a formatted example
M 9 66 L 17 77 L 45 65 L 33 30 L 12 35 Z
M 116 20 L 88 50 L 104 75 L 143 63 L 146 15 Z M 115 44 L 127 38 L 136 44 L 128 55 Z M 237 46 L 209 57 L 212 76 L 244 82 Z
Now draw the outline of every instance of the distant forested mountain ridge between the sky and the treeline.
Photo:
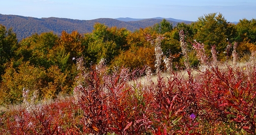
M 17 34 L 18 40 L 29 37 L 34 33 L 43 33 L 53 31 L 55 34 L 60 35 L 62 31 L 71 33 L 77 30 L 79 33 L 92 32 L 96 23 L 104 24 L 108 27 L 125 27 L 128 30 L 134 31 L 139 28 L 151 27 L 160 23 L 163 18 L 157 17 L 152 19 L 133 19 L 133 18 L 99 18 L 94 20 L 75 20 L 67 18 L 33 18 L 24 17 L 19 15 L 2 15 L 0 14 L 0 25 L 5 26 L 7 29 L 12 28 L 13 32 Z M 192 23 L 191 21 L 177 20 L 167 18 L 167 21 L 177 25 L 177 23 L 184 22 L 186 24 Z

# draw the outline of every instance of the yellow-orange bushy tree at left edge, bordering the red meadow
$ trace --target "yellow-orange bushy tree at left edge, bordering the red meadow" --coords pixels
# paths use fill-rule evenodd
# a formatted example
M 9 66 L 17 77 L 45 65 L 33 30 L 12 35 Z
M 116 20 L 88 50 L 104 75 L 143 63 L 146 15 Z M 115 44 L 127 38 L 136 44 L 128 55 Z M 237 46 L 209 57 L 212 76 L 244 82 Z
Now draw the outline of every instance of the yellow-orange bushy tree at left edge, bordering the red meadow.
M 44 68 L 32 66 L 29 62 L 23 62 L 18 68 L 13 67 L 12 61 L 7 63 L 0 83 L 0 104 L 22 103 L 22 91 L 29 89 L 40 92 L 45 77 Z

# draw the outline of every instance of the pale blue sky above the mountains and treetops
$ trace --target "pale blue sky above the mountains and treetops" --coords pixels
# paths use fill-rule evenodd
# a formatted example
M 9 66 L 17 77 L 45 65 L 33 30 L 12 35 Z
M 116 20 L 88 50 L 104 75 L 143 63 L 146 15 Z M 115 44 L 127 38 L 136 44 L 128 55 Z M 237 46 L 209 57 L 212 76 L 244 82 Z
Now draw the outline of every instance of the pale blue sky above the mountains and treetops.
M 35 18 L 129 17 L 197 21 L 221 13 L 228 22 L 256 19 L 256 0 L 1 0 L 0 14 Z

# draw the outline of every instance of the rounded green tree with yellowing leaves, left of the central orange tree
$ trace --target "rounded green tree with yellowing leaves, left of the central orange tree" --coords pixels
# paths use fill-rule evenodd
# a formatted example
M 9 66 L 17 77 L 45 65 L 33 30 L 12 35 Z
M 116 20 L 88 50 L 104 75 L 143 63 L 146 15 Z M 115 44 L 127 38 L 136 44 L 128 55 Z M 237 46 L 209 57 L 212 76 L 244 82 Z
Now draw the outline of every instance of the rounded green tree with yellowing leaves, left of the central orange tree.
M 128 34 L 126 28 L 109 28 L 104 24 L 95 24 L 93 32 L 85 34 L 84 38 L 87 63 L 96 63 L 101 58 L 111 61 L 121 51 L 128 50 Z

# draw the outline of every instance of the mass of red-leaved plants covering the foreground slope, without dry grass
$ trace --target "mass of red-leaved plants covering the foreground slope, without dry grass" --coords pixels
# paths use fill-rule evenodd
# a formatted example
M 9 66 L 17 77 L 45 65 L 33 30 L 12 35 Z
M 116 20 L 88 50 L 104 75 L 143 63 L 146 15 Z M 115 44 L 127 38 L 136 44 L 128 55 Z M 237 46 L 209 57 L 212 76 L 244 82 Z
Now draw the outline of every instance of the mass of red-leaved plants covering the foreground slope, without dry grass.
M 34 111 L 35 116 L 24 109 L 13 118 L 15 121 L 0 120 L 12 123 L 6 124 L 13 130 L 11 134 L 20 131 L 33 135 L 38 131 L 46 135 L 217 133 L 210 131 L 211 126 L 214 130 L 228 126 L 229 131 L 238 133 L 244 129 L 255 133 L 255 81 L 247 81 L 240 71 L 214 67 L 195 77 L 189 71 L 188 78 L 173 73 L 167 81 L 158 76 L 157 82 L 147 85 L 136 80 L 143 72 L 121 71 L 110 74 L 92 68 L 89 73 L 81 74 L 81 81 L 74 89 L 78 102 L 74 99 L 53 102 Z M 218 134 L 224 134 L 224 128 Z

